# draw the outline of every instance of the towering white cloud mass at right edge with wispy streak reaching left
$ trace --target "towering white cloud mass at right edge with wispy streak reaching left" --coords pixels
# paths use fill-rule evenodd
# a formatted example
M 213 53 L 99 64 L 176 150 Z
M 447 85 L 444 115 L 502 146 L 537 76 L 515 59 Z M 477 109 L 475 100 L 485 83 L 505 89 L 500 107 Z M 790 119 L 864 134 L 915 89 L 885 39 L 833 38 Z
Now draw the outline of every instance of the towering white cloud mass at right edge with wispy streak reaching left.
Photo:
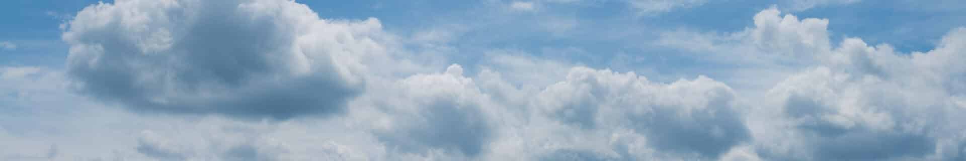
M 962 104 L 966 29 L 928 52 L 846 38 L 831 45 L 828 20 L 768 9 L 725 35 L 673 32 L 659 43 L 718 63 L 797 68 L 747 98 L 755 153 L 765 160 L 955 160 L 966 129 Z M 787 71 L 787 70 L 786 70 Z M 747 79 L 743 79 L 747 80 Z

